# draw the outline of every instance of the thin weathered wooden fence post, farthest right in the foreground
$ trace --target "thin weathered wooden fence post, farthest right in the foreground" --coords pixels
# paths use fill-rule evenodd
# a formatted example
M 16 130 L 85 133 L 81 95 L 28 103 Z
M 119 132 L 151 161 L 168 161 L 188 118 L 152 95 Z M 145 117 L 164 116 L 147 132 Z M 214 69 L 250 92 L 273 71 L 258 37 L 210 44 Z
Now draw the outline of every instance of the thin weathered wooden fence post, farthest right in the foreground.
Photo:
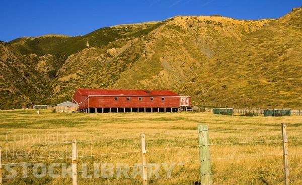
M 286 125 L 281 124 L 282 128 L 282 144 L 283 144 L 283 166 L 284 166 L 284 185 L 289 184 L 289 169 L 288 169 L 288 140 L 286 135 Z

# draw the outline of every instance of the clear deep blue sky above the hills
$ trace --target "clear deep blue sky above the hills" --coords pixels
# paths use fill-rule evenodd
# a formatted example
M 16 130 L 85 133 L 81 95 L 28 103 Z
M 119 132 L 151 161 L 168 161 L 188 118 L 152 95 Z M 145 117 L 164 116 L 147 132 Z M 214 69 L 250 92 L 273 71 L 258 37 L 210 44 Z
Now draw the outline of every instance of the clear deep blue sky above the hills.
M 300 6 L 302 0 L 1 0 L 0 40 L 51 33 L 85 35 L 106 26 L 176 15 L 278 18 Z

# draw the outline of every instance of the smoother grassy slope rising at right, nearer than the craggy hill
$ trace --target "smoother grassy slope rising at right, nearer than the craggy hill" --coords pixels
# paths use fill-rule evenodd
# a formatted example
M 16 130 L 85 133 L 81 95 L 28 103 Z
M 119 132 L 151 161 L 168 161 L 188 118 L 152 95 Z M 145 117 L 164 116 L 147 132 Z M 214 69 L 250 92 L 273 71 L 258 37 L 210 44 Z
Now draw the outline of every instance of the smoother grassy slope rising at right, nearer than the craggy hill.
M 301 107 L 302 11 L 269 21 L 217 53 L 184 91 L 244 106 Z M 198 89 L 198 90 L 197 90 Z

